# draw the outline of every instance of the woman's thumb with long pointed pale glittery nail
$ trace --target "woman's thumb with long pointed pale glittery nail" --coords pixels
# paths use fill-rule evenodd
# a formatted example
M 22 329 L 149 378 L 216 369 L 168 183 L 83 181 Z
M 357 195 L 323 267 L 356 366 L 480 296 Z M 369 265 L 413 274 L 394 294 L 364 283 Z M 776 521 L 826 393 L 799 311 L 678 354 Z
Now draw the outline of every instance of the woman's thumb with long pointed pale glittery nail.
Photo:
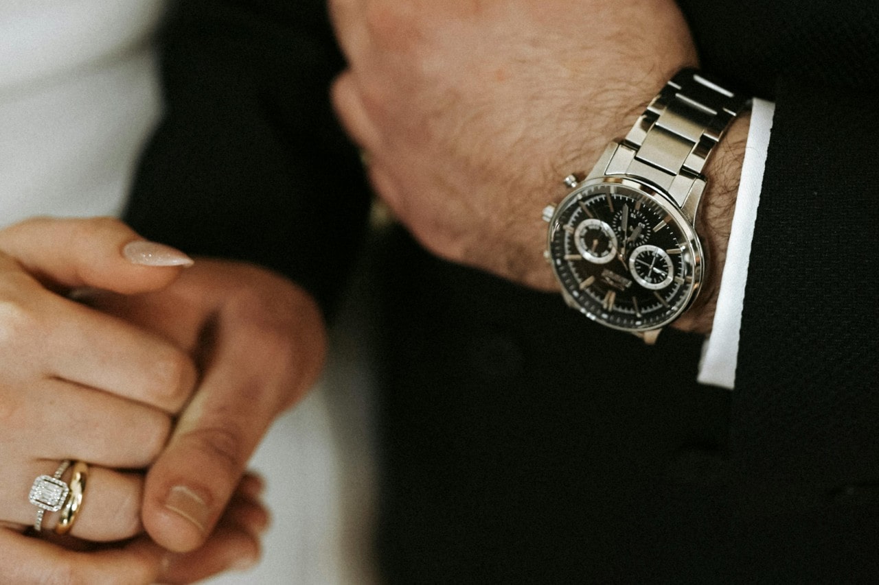
M 48 284 L 117 293 L 159 290 L 193 264 L 112 218 L 27 220 L 0 231 L 0 251 Z

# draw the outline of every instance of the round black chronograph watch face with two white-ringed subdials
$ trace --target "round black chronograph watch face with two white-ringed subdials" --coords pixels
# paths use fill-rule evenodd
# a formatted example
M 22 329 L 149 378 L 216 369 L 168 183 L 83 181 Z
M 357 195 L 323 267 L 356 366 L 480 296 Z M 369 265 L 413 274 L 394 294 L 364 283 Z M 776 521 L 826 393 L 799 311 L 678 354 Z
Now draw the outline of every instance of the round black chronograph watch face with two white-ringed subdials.
M 578 185 L 549 222 L 548 249 L 568 303 L 614 329 L 663 327 L 701 283 L 693 227 L 665 196 L 628 178 Z

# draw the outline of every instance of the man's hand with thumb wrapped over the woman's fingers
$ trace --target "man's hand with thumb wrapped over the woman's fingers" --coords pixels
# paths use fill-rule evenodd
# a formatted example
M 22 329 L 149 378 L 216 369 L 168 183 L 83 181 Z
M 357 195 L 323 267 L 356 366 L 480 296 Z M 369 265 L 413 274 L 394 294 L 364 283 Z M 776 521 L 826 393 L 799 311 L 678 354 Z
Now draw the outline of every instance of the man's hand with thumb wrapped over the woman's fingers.
M 322 316 L 287 279 L 208 259 L 160 292 L 91 303 L 168 338 L 199 367 L 193 399 L 147 474 L 142 510 L 158 544 L 193 551 L 214 530 L 276 415 L 315 382 L 326 344 Z

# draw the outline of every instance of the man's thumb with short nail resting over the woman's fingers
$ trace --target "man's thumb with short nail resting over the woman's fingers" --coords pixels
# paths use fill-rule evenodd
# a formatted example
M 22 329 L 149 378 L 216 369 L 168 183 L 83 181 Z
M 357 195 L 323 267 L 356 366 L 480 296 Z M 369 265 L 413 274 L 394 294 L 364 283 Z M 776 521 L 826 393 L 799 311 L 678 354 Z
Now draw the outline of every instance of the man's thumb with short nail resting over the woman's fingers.
M 265 287 L 277 282 L 266 278 L 223 308 L 205 376 L 149 470 L 143 524 L 169 550 L 191 551 L 204 541 L 265 430 L 323 364 L 316 305 L 299 289 L 277 303 L 293 290 L 287 284 L 266 301 Z

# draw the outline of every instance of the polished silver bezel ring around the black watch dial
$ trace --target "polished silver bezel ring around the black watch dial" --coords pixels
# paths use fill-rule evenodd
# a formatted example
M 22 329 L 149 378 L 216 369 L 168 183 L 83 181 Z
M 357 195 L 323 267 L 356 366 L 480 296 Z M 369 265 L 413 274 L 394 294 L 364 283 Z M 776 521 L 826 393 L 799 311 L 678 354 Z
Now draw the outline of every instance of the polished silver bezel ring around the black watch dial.
M 559 217 L 565 210 L 567 210 L 572 200 L 578 199 L 581 193 L 590 190 L 599 184 L 607 184 L 608 186 L 622 185 L 634 191 L 640 191 L 650 199 L 656 201 L 657 205 L 662 207 L 663 210 L 672 217 L 672 220 L 677 223 L 681 233 L 686 238 L 688 246 L 692 250 L 691 264 L 693 283 L 689 285 L 689 290 L 686 292 L 686 299 L 681 300 L 678 310 L 663 321 L 650 322 L 649 324 L 645 324 L 641 327 L 625 327 L 608 322 L 603 319 L 601 315 L 593 314 L 577 299 L 575 299 L 570 294 L 568 288 L 565 286 L 562 275 L 559 274 L 558 264 L 556 264 L 557 258 L 553 256 L 552 246 L 553 238 L 556 235 L 556 230 L 563 228 L 561 222 L 559 221 Z M 658 188 L 656 185 L 650 184 L 650 182 L 640 179 L 638 177 L 621 175 L 601 175 L 598 177 L 586 178 L 584 181 L 581 181 L 578 184 L 574 185 L 573 188 L 556 206 L 552 218 L 549 220 L 546 249 L 548 250 L 548 256 L 551 258 L 551 262 L 549 264 L 552 267 L 553 274 L 556 276 L 556 280 L 561 285 L 562 296 L 565 302 L 570 307 L 578 310 L 582 314 L 585 314 L 585 316 L 592 321 L 600 323 L 601 325 L 610 329 L 617 329 L 619 331 L 626 331 L 628 333 L 642 334 L 647 331 L 663 329 L 671 324 L 673 321 L 676 321 L 681 314 L 684 314 L 684 312 L 686 312 L 689 307 L 693 306 L 694 301 L 698 298 L 699 293 L 701 292 L 701 285 L 705 279 L 705 250 L 702 246 L 701 239 L 696 232 L 695 227 L 692 223 L 690 223 L 689 220 L 686 219 L 685 215 L 681 213 L 679 206 L 677 206 L 673 202 L 671 195 L 665 192 L 665 190 Z M 565 262 L 563 258 L 561 260 Z

